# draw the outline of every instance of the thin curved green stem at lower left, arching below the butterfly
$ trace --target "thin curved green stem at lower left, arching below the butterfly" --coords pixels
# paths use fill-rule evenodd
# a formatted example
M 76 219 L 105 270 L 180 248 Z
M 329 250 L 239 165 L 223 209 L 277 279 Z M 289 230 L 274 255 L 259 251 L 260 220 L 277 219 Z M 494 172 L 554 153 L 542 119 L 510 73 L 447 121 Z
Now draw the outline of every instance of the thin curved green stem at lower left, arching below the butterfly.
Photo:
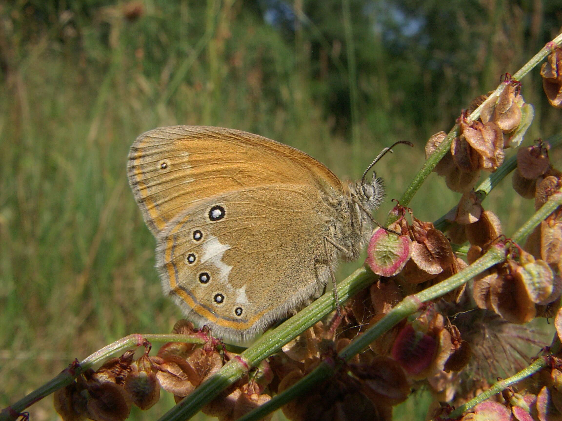
M 147 345 L 148 342 L 189 342 L 192 344 L 204 344 L 205 340 L 203 338 L 193 337 L 189 335 L 174 335 L 174 334 L 148 334 L 141 335 L 140 333 L 133 333 L 133 335 L 125 336 L 111 344 L 104 346 L 102 349 L 96 351 L 95 353 L 87 356 L 84 360 L 80 361 L 79 364 L 70 364 L 69 367 L 62 370 L 60 374 L 52 378 L 50 381 L 45 383 L 43 386 L 37 388 L 33 392 L 29 393 L 15 404 L 4 408 L 0 413 L 0 421 L 13 421 L 17 419 L 20 414 L 33 405 L 35 402 L 42 400 L 44 397 L 50 395 L 51 393 L 57 391 L 58 389 L 70 385 L 74 379 L 83 373 L 88 368 L 92 367 L 110 355 L 118 353 L 119 351 L 124 351 L 130 347 L 138 347 Z

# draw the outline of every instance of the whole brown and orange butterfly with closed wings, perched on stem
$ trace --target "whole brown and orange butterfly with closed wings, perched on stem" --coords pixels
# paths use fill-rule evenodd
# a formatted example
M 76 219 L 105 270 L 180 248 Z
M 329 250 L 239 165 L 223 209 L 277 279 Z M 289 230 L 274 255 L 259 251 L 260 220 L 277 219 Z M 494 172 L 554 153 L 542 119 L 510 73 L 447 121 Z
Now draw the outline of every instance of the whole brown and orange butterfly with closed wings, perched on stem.
M 339 258 L 359 258 L 384 198 L 374 173 L 343 184 L 298 149 L 207 126 L 140 135 L 128 179 L 164 293 L 235 344 L 317 298 Z

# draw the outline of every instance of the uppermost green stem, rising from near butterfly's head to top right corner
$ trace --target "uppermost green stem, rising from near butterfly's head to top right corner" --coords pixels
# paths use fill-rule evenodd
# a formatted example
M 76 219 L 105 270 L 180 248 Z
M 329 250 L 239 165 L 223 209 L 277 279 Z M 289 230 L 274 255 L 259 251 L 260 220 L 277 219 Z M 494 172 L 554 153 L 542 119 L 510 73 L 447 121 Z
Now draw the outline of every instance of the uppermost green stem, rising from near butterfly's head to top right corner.
M 532 70 L 532 68 L 537 66 L 546 56 L 548 56 L 548 54 L 552 52 L 554 44 L 562 44 L 562 34 L 556 36 L 556 38 L 554 38 L 550 43 L 547 43 L 545 47 L 541 49 L 541 51 L 535 54 L 534 57 L 531 58 L 531 60 L 529 60 L 527 63 L 525 63 L 525 65 L 523 65 L 523 67 L 516 71 L 513 75 L 513 79 L 521 80 L 525 75 L 527 75 L 528 72 Z M 470 114 L 470 120 L 476 120 L 480 116 L 482 108 L 486 106 L 488 102 L 495 101 L 496 98 L 502 93 L 505 86 L 505 83 L 500 83 L 496 90 L 493 91 L 490 96 L 472 112 L 472 114 Z M 407 205 L 410 203 L 410 200 L 414 197 L 414 194 L 416 194 L 416 191 L 418 191 L 425 179 L 427 179 L 429 174 L 433 171 L 433 168 L 439 161 L 441 161 L 441 158 L 445 156 L 447 150 L 451 148 L 451 142 L 456 138 L 457 135 L 459 135 L 459 125 L 455 124 L 451 131 L 448 132 L 446 138 L 443 139 L 441 145 L 439 145 L 439 148 L 437 148 L 437 150 L 433 152 L 433 154 L 425 161 L 422 169 L 416 174 L 414 180 L 410 183 L 410 185 L 406 188 L 406 191 L 404 191 L 404 194 L 402 194 L 402 196 L 400 197 L 400 200 L 398 202 L 402 206 L 407 207 Z M 387 217 L 385 226 L 388 226 L 392 222 L 395 222 L 396 219 L 397 216 L 392 214 L 389 215 Z

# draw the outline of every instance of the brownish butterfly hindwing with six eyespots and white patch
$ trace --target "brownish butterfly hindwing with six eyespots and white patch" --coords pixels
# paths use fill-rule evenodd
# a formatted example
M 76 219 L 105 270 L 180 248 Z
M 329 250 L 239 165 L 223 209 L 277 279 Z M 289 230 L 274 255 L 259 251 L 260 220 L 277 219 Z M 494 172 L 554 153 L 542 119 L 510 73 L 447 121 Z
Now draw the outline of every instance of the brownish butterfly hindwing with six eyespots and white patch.
M 323 288 L 333 212 L 302 185 L 202 200 L 158 237 L 164 290 L 214 335 L 251 337 Z

